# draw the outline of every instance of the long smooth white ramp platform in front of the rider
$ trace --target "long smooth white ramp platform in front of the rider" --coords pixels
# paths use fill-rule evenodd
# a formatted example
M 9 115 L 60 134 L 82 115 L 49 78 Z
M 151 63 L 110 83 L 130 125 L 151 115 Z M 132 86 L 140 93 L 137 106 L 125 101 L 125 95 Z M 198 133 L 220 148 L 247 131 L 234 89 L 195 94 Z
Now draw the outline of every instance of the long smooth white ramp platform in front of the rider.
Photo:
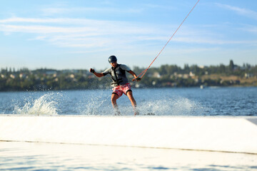
M 0 140 L 257 154 L 257 118 L 0 115 Z

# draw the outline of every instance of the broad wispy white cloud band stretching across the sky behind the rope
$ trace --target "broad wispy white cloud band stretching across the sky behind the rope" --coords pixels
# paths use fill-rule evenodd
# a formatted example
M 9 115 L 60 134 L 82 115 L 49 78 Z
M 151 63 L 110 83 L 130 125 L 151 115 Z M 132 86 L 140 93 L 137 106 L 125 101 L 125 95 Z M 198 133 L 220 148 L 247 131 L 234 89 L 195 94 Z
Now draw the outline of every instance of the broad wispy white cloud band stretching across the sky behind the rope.
M 0 20 L 0 31 L 6 36 L 11 33 L 28 33 L 29 41 L 47 41 L 54 46 L 71 48 L 126 48 L 129 46 L 154 45 L 157 41 L 168 41 L 176 26 L 152 26 L 129 21 L 101 21 L 71 18 L 20 18 Z M 202 26 L 205 27 L 205 26 Z M 254 29 L 253 31 L 256 31 Z M 34 38 L 31 38 L 33 36 Z M 172 41 L 198 44 L 235 44 L 256 41 L 231 41 L 217 39 L 217 35 L 201 26 L 181 28 Z M 83 50 L 84 51 L 84 50 Z M 88 51 L 88 50 L 86 50 Z

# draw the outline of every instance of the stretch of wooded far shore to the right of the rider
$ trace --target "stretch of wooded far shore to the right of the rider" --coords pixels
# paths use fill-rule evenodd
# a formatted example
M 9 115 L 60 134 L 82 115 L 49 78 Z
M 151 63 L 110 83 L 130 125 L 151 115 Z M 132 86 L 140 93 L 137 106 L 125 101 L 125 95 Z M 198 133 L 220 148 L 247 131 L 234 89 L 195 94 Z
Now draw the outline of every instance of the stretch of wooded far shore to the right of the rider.
M 135 67 L 136 73 L 141 73 L 144 68 Z M 156 76 L 157 75 L 157 76 Z M 216 75 L 218 78 L 211 78 Z M 236 80 L 222 80 L 236 76 Z M 163 65 L 158 68 L 149 68 L 141 81 L 147 87 L 193 87 L 193 86 L 257 86 L 257 66 L 244 63 L 238 66 L 231 60 L 228 66 L 197 66 L 185 64 L 183 68 L 176 65 Z M 251 78 L 247 83 L 242 79 Z

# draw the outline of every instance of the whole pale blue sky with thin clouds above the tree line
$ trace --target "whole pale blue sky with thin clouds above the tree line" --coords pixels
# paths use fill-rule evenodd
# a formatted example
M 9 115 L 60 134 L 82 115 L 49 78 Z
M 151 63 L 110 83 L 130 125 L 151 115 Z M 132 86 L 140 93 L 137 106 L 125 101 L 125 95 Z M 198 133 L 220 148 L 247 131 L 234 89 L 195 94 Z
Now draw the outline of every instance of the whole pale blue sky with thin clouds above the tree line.
M 1 0 L 0 68 L 147 67 L 197 0 Z M 257 1 L 200 0 L 154 67 L 257 64 Z

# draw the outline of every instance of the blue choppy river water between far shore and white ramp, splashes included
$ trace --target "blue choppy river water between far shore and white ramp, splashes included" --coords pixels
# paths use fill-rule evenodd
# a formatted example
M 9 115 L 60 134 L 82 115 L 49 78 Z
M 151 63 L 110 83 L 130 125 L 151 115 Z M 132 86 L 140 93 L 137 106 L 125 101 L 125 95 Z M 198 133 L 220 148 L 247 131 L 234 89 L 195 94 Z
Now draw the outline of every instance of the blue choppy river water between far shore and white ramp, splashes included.
M 141 115 L 257 115 L 257 87 L 133 89 Z M 122 115 L 133 115 L 126 95 Z M 0 93 L 0 113 L 32 115 L 114 115 L 111 90 Z

